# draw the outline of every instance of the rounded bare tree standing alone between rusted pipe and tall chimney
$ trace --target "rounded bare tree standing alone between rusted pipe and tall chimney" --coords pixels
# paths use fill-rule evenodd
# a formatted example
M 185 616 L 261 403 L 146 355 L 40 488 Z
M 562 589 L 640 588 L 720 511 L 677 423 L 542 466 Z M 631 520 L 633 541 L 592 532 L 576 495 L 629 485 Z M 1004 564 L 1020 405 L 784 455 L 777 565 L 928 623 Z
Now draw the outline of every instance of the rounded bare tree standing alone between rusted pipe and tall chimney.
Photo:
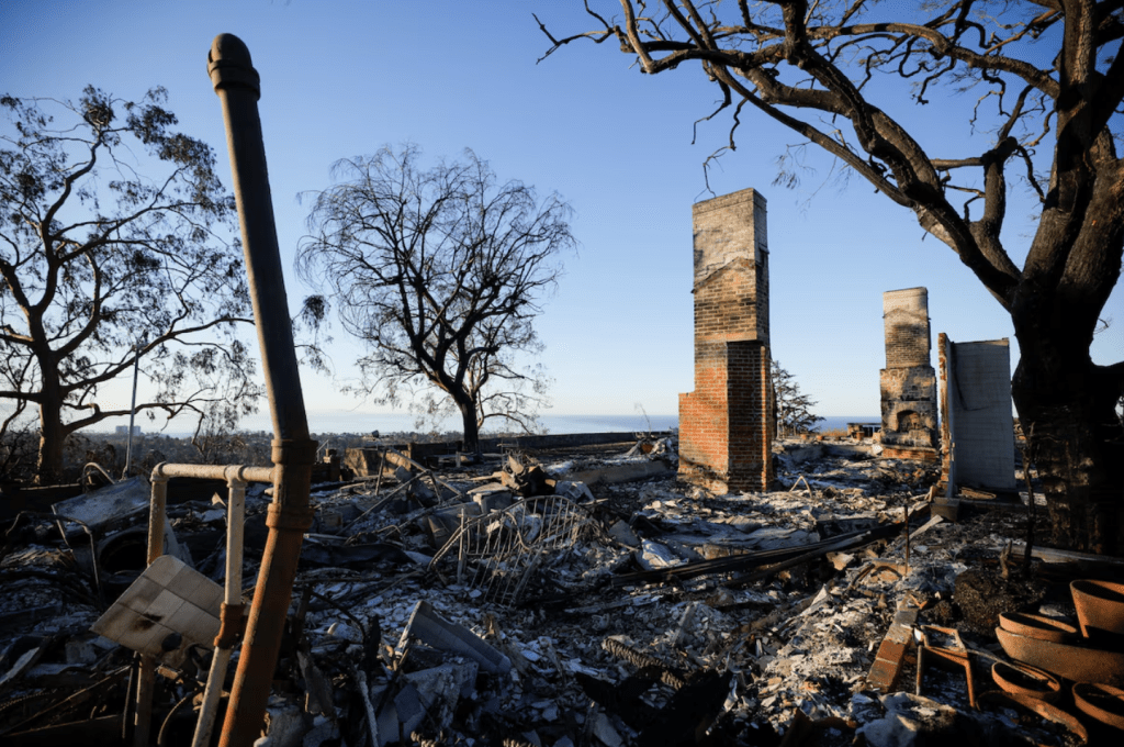
M 571 208 L 497 183 L 471 151 L 429 169 L 420 159 L 408 145 L 336 163 L 342 181 L 315 195 L 298 269 L 366 343 L 357 390 L 396 404 L 420 394 L 428 414 L 451 402 L 471 450 L 488 418 L 531 426 L 545 402 L 545 378 L 516 358 L 542 350 L 536 304 L 574 245 Z

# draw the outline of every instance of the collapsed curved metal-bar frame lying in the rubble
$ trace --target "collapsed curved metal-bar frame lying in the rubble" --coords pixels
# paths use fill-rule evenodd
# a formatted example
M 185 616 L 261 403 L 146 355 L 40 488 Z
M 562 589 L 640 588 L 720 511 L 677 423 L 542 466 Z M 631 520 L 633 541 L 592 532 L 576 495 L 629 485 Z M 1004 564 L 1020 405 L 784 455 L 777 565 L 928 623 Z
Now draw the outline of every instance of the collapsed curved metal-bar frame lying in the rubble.
M 543 564 L 552 556 L 561 560 L 560 552 L 574 547 L 591 522 L 584 508 L 561 495 L 522 498 L 471 519 L 462 513 L 461 525 L 428 567 L 436 569 L 455 554 L 457 583 L 481 590 L 484 602 L 514 606 Z

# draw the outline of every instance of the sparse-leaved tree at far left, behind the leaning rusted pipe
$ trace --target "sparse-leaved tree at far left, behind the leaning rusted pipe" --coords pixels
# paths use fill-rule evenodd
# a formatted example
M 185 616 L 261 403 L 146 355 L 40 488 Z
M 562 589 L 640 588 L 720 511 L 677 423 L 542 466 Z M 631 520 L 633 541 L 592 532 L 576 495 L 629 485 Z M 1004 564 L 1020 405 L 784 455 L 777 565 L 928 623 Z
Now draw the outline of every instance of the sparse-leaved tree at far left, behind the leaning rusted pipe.
M 0 97 L 0 399 L 38 408 L 42 482 L 69 434 L 129 413 L 97 397 L 137 358 L 149 416 L 201 414 L 230 390 L 218 381 L 250 406 L 259 394 L 235 336 L 251 321 L 242 253 L 218 233 L 234 200 L 165 97 Z

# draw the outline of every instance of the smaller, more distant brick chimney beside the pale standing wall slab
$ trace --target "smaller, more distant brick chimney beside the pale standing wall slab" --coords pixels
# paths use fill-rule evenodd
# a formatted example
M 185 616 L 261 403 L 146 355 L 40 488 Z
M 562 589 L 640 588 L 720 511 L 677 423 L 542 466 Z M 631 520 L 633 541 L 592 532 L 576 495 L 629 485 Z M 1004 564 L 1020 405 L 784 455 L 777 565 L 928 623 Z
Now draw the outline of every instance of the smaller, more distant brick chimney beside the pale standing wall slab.
M 882 456 L 936 461 L 936 371 L 930 364 L 928 290 L 887 290 L 882 316 Z

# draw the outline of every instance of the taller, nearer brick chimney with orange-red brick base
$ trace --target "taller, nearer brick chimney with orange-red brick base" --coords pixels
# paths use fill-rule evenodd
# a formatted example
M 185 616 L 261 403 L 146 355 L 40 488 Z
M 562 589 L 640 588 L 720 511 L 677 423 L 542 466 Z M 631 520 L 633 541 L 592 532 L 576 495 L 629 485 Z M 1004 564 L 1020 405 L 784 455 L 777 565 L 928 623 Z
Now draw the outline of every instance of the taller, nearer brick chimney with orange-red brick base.
M 695 392 L 679 395 L 679 475 L 711 489 L 768 490 L 769 240 L 752 189 L 696 202 Z

